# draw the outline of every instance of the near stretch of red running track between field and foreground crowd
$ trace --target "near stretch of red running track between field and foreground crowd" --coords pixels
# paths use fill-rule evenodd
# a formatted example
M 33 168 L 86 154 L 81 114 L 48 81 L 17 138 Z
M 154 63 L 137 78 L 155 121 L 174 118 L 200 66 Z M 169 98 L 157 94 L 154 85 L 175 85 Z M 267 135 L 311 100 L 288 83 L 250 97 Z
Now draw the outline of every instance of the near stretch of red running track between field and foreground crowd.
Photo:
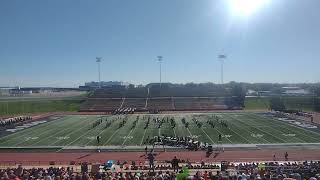
M 191 162 L 253 162 L 253 161 L 273 161 L 276 155 L 277 161 L 284 161 L 285 150 L 251 150 L 251 151 L 225 151 L 219 154 L 212 154 L 209 158 L 205 152 L 157 152 L 157 161 L 171 160 L 174 156 L 179 159 Z M 320 160 L 320 149 L 316 150 L 288 150 L 289 161 Z M 68 165 L 71 161 L 76 163 L 104 163 L 107 160 L 120 161 L 146 161 L 143 152 L 94 152 L 94 153 L 0 153 L 0 163 L 15 164 L 41 164 L 48 165 L 50 161 L 56 164 Z

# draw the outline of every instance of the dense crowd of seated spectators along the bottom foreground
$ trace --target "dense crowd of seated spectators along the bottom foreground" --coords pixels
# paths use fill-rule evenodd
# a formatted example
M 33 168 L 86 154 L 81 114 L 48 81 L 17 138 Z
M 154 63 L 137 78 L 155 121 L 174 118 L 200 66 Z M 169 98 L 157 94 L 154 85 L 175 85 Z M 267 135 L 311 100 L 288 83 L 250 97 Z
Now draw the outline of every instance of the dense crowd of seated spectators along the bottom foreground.
M 167 168 L 167 169 L 165 169 Z M 156 168 L 157 169 L 157 168 Z M 24 169 L 8 168 L 0 170 L 0 179 L 3 180 L 27 180 L 27 179 L 71 179 L 71 180 L 98 180 L 98 179 L 136 179 L 136 180 L 171 180 L 171 179 L 297 179 L 297 180 L 316 180 L 320 178 L 320 162 L 303 162 L 284 164 L 270 163 L 240 163 L 229 164 L 229 170 L 220 171 L 214 169 L 191 169 L 187 166 L 180 166 L 178 172 L 173 171 L 170 165 L 159 166 L 157 171 L 148 170 L 108 170 L 96 173 L 76 172 L 73 168 L 33 168 Z M 230 170 L 234 173 L 228 173 Z

